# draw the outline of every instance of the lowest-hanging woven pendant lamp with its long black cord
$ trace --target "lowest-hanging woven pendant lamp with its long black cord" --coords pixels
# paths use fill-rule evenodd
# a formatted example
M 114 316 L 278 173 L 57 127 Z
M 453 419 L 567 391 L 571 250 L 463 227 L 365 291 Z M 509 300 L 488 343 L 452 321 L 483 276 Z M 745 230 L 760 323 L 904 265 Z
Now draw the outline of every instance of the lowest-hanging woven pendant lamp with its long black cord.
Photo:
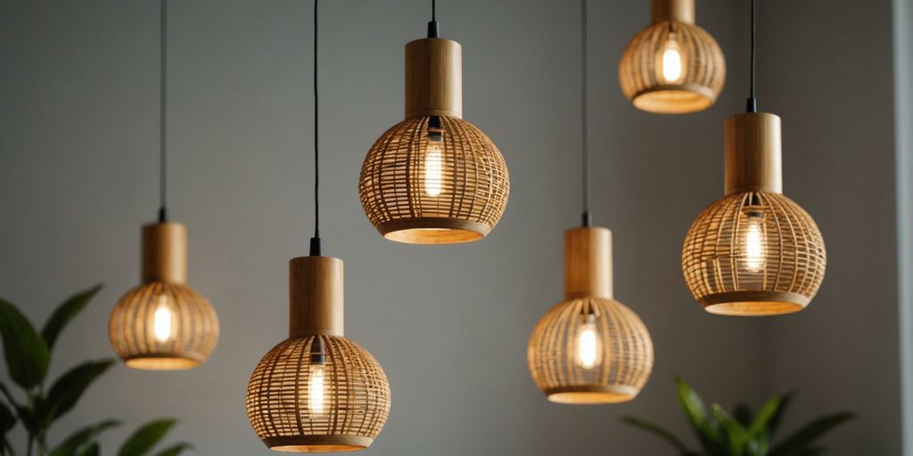
M 342 260 L 320 254 L 317 13 L 315 0 L 314 237 L 310 256 L 289 261 L 289 338 L 269 350 L 247 384 L 247 419 L 275 451 L 363 450 L 390 413 L 383 368 L 343 337 Z

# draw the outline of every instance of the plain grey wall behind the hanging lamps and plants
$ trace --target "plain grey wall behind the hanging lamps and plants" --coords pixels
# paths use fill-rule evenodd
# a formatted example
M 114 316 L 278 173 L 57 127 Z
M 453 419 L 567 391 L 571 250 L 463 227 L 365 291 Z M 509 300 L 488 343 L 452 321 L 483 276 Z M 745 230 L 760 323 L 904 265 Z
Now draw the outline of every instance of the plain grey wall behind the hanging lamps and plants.
M 863 413 L 835 434 L 834 454 L 899 452 L 887 0 L 808 0 L 801 15 L 795 2 L 761 2 L 761 107 L 783 116 L 787 194 L 818 221 L 830 259 L 813 305 L 769 320 L 705 314 L 679 269 L 688 226 L 722 196 L 722 122 L 747 93 L 747 4 L 698 2 L 727 87 L 713 108 L 668 117 L 635 110 L 618 88 L 648 2 L 591 2 L 595 222 L 614 232 L 615 295 L 649 326 L 656 368 L 634 402 L 582 408 L 548 403 L 526 368 L 532 326 L 561 300 L 561 233 L 579 223 L 579 6 L 439 2 L 442 35 L 464 49 L 465 118 L 504 154 L 511 196 L 485 240 L 418 247 L 373 230 L 357 178 L 373 140 L 402 119 L 403 47 L 424 36 L 428 3 L 321 3 L 324 249 L 346 262 L 347 336 L 378 358 L 394 397 L 365 454 L 671 453 L 617 418 L 686 434 L 674 375 L 726 406 L 803 389 L 796 419 Z M 110 452 L 141 422 L 174 416 L 173 439 L 201 454 L 268 454 L 244 397 L 286 337 L 287 262 L 313 229 L 311 7 L 170 5 L 170 208 L 190 230 L 190 285 L 214 303 L 222 337 L 193 371 L 113 369 L 52 440 L 126 420 Z M 73 291 L 106 284 L 64 334 L 52 376 L 112 356 L 110 308 L 138 283 L 140 226 L 158 205 L 158 8 L 0 0 L 0 295 L 43 321 Z

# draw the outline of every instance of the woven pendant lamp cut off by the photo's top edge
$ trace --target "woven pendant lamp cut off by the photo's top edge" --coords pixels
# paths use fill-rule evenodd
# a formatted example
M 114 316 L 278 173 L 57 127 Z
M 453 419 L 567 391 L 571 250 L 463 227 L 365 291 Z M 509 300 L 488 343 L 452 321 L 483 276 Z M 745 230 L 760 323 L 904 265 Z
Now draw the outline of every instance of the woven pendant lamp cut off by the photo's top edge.
M 618 79 L 635 108 L 658 114 L 708 109 L 726 81 L 717 41 L 694 23 L 695 0 L 653 0 L 653 23 L 624 47 Z

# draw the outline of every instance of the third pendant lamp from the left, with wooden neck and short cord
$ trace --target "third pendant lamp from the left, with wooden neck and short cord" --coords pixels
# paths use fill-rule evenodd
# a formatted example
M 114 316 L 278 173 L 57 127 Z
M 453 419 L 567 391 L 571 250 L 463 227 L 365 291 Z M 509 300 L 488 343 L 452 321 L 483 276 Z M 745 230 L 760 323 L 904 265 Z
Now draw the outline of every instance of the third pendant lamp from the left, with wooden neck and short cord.
M 374 142 L 362 165 L 364 213 L 407 244 L 477 241 L 498 223 L 509 177 L 488 136 L 463 120 L 462 49 L 438 35 L 405 46 L 405 120 Z

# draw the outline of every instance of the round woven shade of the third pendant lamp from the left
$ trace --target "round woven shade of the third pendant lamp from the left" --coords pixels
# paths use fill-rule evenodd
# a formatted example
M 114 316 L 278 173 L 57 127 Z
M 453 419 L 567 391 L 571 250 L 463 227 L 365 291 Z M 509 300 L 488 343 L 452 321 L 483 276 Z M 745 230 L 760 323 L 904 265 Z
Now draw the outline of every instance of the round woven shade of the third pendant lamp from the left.
M 364 212 L 393 241 L 475 241 L 494 228 L 507 206 L 507 164 L 485 133 L 466 120 L 444 116 L 438 118 L 443 147 L 431 168 L 436 175 L 429 176 L 429 119 L 405 119 L 374 142 L 359 180 Z M 427 191 L 429 179 L 435 192 Z

